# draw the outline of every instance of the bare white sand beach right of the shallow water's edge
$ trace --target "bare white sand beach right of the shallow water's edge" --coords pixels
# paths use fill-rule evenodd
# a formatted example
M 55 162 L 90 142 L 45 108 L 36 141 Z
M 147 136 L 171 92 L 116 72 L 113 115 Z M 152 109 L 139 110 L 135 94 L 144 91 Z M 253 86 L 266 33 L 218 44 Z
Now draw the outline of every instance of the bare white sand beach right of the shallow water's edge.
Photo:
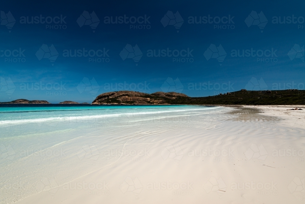
M 118 126 L 107 137 L 117 146 L 97 150 L 92 137 L 79 152 L 92 172 L 57 185 L 68 176 L 52 168 L 39 192 L 16 203 L 304 203 L 305 110 L 288 108 L 221 107 Z

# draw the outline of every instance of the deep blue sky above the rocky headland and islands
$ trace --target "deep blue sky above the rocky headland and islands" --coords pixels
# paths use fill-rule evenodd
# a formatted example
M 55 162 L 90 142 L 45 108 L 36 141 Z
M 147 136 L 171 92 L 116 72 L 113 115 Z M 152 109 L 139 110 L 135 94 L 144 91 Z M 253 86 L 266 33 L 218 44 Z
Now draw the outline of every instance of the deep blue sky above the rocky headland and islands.
M 0 101 L 304 90 L 304 1 L 6 1 Z M 160 53 L 160 54 L 159 54 Z

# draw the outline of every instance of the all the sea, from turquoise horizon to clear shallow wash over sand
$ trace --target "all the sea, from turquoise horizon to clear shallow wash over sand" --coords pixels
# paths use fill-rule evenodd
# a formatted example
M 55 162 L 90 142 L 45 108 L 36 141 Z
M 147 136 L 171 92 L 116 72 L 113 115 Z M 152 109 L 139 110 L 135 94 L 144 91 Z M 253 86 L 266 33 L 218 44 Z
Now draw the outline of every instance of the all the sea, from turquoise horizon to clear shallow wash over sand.
M 0 202 L 63 185 L 110 165 L 126 144 L 147 148 L 219 124 L 208 106 L 0 106 Z M 168 132 L 168 133 L 167 133 Z M 174 134 L 173 132 L 176 132 Z M 170 136 L 171 135 L 171 136 Z M 60 172 L 60 173 L 59 173 Z M 13 191 L 12 191 L 13 189 Z

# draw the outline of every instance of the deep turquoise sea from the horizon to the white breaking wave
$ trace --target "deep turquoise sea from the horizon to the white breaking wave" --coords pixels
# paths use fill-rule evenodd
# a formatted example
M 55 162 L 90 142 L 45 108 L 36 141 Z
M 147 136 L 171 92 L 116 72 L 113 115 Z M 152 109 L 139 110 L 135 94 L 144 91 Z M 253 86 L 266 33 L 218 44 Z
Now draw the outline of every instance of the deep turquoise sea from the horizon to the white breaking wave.
M 121 115 L 160 114 L 213 109 L 205 106 L 72 106 L 72 107 L 0 107 L 1 124 L 66 121 L 119 117 Z M 1 127 L 0 127 L 1 128 Z

